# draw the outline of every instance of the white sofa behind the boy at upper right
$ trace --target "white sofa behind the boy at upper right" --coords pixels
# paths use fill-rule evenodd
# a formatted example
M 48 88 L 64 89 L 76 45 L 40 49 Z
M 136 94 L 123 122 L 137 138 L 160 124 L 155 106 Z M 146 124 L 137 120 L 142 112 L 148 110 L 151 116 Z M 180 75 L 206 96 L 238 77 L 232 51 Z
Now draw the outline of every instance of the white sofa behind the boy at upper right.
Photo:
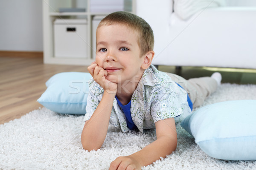
M 154 31 L 154 65 L 256 68 L 256 6 L 205 8 L 183 20 L 172 0 L 137 0 L 136 14 Z

